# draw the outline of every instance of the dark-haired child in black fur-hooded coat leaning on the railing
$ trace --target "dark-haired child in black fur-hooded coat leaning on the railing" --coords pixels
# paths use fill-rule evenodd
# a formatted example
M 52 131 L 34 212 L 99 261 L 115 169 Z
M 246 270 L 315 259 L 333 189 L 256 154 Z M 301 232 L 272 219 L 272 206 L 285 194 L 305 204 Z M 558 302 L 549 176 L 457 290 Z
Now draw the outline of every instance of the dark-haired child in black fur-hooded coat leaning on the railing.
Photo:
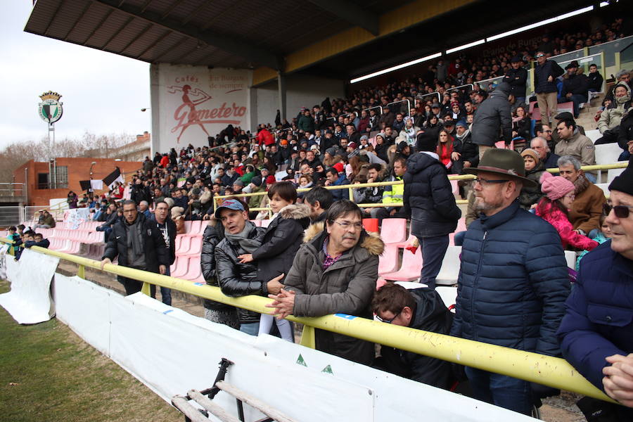
M 257 261 L 257 279 L 264 282 L 288 274 L 301 246 L 303 232 L 310 224 L 310 207 L 296 203 L 297 189 L 291 181 L 273 184 L 268 191 L 268 198 L 274 217 L 264 234 L 262 245 L 252 254 L 238 257 L 242 263 Z M 280 282 L 283 283 L 283 279 Z M 283 340 L 294 340 L 290 322 L 286 319 L 276 320 L 268 314 L 262 314 L 260 334 L 270 333 L 273 322 L 276 322 Z

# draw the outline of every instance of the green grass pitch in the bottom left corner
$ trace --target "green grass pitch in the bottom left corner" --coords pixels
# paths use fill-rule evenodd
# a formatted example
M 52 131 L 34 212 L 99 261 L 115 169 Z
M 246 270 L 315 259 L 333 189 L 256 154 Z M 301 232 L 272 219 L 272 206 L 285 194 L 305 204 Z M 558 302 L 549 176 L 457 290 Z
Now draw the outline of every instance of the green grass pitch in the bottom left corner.
M 0 421 L 183 420 L 57 319 L 23 326 L 0 307 Z

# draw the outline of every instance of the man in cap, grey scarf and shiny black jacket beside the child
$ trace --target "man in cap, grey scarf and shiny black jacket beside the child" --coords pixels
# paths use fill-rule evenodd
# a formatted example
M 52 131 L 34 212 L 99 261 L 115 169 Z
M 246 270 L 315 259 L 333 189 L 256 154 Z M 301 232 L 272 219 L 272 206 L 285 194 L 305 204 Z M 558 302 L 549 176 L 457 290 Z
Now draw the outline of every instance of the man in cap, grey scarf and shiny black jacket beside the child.
M 238 256 L 252 253 L 262 245 L 266 229 L 256 227 L 248 220 L 248 209 L 237 199 L 227 199 L 215 210 L 215 218 L 224 226 L 224 239 L 215 247 L 217 283 L 227 296 L 276 295 L 283 285 L 282 276 L 271 281 L 257 280 L 255 262 L 242 263 Z M 240 331 L 257 335 L 260 331 L 260 314 L 238 309 Z

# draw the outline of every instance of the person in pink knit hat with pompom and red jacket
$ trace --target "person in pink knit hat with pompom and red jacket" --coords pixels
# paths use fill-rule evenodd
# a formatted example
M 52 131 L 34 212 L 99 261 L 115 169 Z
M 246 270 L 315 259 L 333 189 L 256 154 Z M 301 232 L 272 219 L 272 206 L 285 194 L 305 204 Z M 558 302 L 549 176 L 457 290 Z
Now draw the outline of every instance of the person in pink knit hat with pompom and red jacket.
M 568 212 L 574 202 L 574 184 L 560 176 L 544 172 L 541 176 L 541 191 L 545 194 L 536 207 L 536 214 L 549 222 L 558 231 L 563 248 L 568 246 L 592 250 L 599 245 L 587 236 L 577 234 L 569 222 Z

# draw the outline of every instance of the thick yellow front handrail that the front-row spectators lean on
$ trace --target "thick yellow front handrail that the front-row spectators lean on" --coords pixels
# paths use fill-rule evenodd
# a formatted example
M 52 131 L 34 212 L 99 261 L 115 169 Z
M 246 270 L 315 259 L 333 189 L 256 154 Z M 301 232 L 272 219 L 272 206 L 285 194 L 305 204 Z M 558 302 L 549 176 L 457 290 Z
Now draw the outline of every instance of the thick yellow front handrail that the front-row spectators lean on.
M 0 238 L 0 241 L 12 243 L 6 238 Z M 39 248 L 38 246 L 33 246 L 31 249 L 45 255 L 79 264 L 77 273 L 78 275 L 82 274 L 82 278 L 85 278 L 85 267 L 101 270 L 101 262 L 90 260 L 89 258 L 77 257 L 55 250 Z M 148 284 L 155 284 L 156 286 L 172 288 L 199 298 L 214 300 L 226 305 L 234 305 L 259 312 L 260 314 L 270 314 L 271 312 L 270 308 L 265 307 L 271 300 L 262 296 L 248 295 L 241 298 L 229 298 L 229 296 L 222 294 L 222 291 L 216 286 L 200 286 L 191 281 L 162 276 L 140 269 L 120 267 L 115 264 L 106 264 L 101 271 L 142 281 L 143 293 L 146 294 L 149 293 Z M 501 373 L 502 375 L 520 378 L 525 381 L 549 385 L 561 390 L 578 392 L 589 397 L 614 402 L 613 399 L 607 397 L 601 390 L 582 377 L 565 359 L 480 343 L 450 335 L 416 330 L 415 328 L 385 324 L 371 319 L 339 315 L 310 318 L 290 315 L 287 319 L 310 327 L 304 329 L 302 345 L 314 345 L 314 328 L 319 328 L 372 343 L 397 347 L 407 352 L 423 354 L 448 362 L 482 369 L 483 371 Z

